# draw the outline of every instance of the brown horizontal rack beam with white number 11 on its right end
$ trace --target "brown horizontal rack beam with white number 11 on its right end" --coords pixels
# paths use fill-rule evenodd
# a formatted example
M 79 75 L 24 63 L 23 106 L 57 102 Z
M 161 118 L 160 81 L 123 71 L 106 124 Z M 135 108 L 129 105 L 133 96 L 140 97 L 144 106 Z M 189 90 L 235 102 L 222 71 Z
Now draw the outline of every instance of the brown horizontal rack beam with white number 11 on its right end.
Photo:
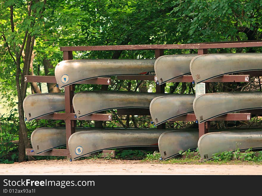
M 252 112 L 253 112 L 253 110 L 252 110 Z M 216 118 L 211 118 L 208 121 L 249 121 L 250 118 L 251 118 L 251 113 L 229 113 L 229 114 L 224 114 L 224 115 L 218 116 Z M 195 114 L 186 114 L 186 115 L 183 115 L 183 116 L 172 118 L 169 121 L 170 122 L 173 122 L 173 121 L 196 121 L 196 119 L 197 118 L 196 118 Z M 200 123 L 200 124 L 202 124 L 202 123 Z

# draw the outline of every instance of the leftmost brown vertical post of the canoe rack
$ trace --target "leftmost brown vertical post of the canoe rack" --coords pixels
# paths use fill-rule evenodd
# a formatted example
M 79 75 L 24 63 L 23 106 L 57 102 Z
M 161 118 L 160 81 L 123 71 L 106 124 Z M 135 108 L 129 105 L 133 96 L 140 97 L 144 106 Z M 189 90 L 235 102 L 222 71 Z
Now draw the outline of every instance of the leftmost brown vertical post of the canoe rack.
M 73 51 L 63 51 L 63 60 L 73 59 Z M 74 113 L 73 108 L 73 97 L 74 97 L 74 84 L 65 87 L 65 112 Z M 66 149 L 67 149 L 67 158 L 70 158 L 70 152 L 68 149 L 68 139 L 75 132 L 76 121 L 66 119 Z

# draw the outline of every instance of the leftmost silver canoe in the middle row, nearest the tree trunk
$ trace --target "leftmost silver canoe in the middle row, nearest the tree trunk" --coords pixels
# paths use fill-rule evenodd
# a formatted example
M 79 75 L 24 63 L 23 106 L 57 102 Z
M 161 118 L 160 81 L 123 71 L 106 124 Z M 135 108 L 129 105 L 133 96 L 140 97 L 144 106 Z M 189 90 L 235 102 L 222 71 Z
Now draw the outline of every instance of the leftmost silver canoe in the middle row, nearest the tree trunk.
M 64 93 L 38 93 L 26 96 L 23 101 L 26 120 L 65 110 Z

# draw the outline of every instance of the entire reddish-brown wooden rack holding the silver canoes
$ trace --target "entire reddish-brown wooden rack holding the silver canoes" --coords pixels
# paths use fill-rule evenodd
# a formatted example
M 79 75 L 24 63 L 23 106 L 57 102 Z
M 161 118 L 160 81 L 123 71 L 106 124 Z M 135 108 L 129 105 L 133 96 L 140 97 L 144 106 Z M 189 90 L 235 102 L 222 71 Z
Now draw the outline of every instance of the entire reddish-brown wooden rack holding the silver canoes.
M 194 44 L 152 44 L 152 45 L 113 45 L 113 46 L 69 46 L 60 47 L 60 51 L 63 51 L 63 60 L 73 59 L 73 51 L 98 51 L 98 50 L 154 50 L 155 58 L 164 55 L 164 50 L 170 49 L 197 49 L 198 55 L 207 54 L 208 49 L 212 48 L 239 48 L 239 47 L 262 47 L 262 41 L 232 41 L 232 42 L 209 42 L 209 43 L 194 43 Z M 250 77 L 262 76 L 262 71 L 250 71 L 241 72 L 245 75 L 223 75 L 217 78 L 205 81 L 206 87 L 209 86 L 209 82 L 249 82 Z M 117 76 L 120 80 L 151 80 L 157 82 L 155 75 L 138 75 L 138 76 Z M 26 82 L 45 82 L 45 83 L 57 83 L 54 76 L 35 76 L 26 75 L 24 77 Z M 179 78 L 172 79 L 168 82 L 193 82 L 191 75 L 181 76 Z M 76 84 L 104 84 L 110 85 L 111 78 L 94 78 L 81 81 Z M 156 84 L 156 93 L 165 93 L 166 84 Z M 66 156 L 70 158 L 68 149 L 68 139 L 75 132 L 76 120 L 94 120 L 94 121 L 112 121 L 112 114 L 91 114 L 81 119 L 75 118 L 75 113 L 72 105 L 72 99 L 74 96 L 74 84 L 71 84 L 64 88 L 65 92 L 65 113 L 53 113 L 45 115 L 37 119 L 54 119 L 65 120 L 66 122 L 66 149 L 53 149 L 47 152 L 43 152 L 41 156 Z M 206 88 L 207 89 L 207 88 Z M 207 90 L 206 90 L 207 91 Z M 244 111 L 249 113 L 230 113 L 222 115 L 217 118 L 210 119 L 210 121 L 247 121 L 251 119 L 252 114 L 262 114 L 261 109 Z M 253 113 L 255 112 L 255 113 Z M 118 115 L 150 115 L 149 109 L 117 109 Z M 173 118 L 169 121 L 196 121 L 194 114 L 187 114 L 177 118 Z M 199 138 L 208 133 L 210 121 L 199 124 Z M 165 129 L 165 123 L 157 126 L 157 129 Z M 35 156 L 32 152 L 33 149 L 26 149 L 26 155 Z M 111 157 L 115 156 L 115 152 L 112 150 L 104 150 L 104 155 L 109 153 Z

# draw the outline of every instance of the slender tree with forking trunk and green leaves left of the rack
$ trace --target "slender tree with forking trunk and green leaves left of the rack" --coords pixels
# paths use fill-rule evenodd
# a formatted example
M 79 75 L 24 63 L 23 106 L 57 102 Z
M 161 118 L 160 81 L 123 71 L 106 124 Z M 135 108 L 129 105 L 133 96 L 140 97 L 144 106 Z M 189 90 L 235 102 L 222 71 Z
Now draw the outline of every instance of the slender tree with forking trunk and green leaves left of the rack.
M 35 38 L 42 26 L 45 5 L 46 0 L 6 1 L 4 4 L 5 11 L 9 11 L 10 19 L 8 26 L 4 27 L 2 24 L 3 33 L 1 37 L 16 67 L 15 84 L 19 113 L 19 162 L 25 160 L 25 148 L 30 148 L 23 109 L 23 101 L 27 89 L 27 82 L 24 81 L 24 76 L 29 74 Z M 22 58 L 23 53 L 24 58 Z

